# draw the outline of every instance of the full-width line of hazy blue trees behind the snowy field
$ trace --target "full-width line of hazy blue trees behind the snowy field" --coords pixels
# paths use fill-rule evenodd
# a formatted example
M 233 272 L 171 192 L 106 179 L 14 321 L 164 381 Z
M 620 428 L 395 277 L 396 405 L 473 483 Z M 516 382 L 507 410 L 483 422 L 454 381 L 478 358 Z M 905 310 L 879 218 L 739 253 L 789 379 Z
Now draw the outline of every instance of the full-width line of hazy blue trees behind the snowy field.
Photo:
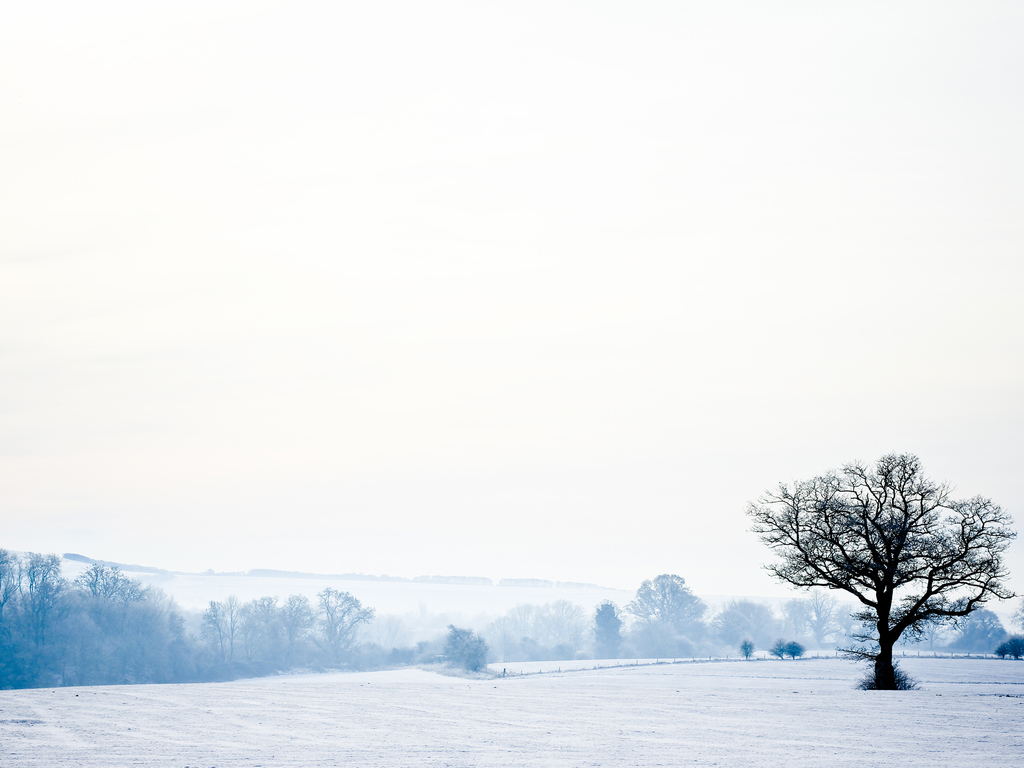
M 18 557 L 0 549 L 0 688 L 201 682 L 438 662 L 479 669 L 487 662 L 749 657 L 756 650 L 796 657 L 806 647 L 830 649 L 859 637 L 864 627 L 855 611 L 822 592 L 778 610 L 737 599 L 712 611 L 682 577 L 662 574 L 645 581 L 624 607 L 606 601 L 588 612 L 566 600 L 521 604 L 498 618 L 477 617 L 474 629 L 422 610 L 406 617 L 415 618 L 410 627 L 330 587 L 314 601 L 228 597 L 189 613 L 117 567 L 94 563 L 68 580 L 56 555 Z M 1024 605 L 1014 623 L 1024 630 Z M 1008 635 L 983 608 L 945 634 L 941 629 L 902 642 L 1013 657 L 1024 651 L 1024 638 Z M 421 638 L 415 643 L 414 632 Z

